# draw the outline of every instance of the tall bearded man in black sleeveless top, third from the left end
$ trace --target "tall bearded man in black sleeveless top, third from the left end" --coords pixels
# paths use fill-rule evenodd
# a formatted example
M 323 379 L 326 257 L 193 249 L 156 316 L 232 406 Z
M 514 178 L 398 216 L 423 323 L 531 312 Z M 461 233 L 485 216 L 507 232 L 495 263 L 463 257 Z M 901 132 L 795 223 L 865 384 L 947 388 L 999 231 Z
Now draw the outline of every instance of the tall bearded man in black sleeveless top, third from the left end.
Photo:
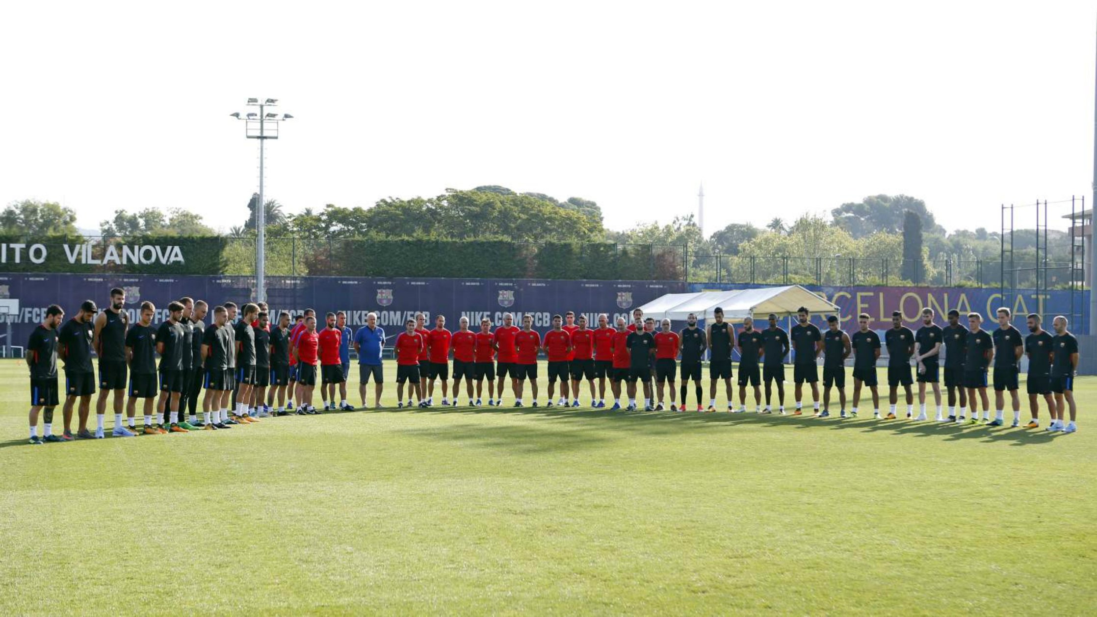
M 95 399 L 95 438 L 103 438 L 103 419 L 106 415 L 106 397 L 114 393 L 114 430 L 122 426 L 122 408 L 126 395 L 126 328 L 129 315 L 122 310 L 126 293 L 121 287 L 111 289 L 111 304 L 95 316 L 91 346 L 99 356 L 99 397 Z M 123 436 L 123 435 L 118 435 Z

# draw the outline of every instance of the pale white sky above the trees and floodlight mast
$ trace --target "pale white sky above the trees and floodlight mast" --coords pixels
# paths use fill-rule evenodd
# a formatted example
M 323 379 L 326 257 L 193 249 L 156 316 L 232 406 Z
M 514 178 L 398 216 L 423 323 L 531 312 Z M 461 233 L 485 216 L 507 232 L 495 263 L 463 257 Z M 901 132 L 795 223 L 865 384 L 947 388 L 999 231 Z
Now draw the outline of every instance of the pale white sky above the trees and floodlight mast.
M 502 184 L 622 229 L 703 181 L 709 233 L 877 193 L 997 229 L 1089 192 L 1088 1 L 317 4 L 7 3 L 0 205 L 239 225 L 248 96 L 296 116 L 267 156 L 289 212 Z

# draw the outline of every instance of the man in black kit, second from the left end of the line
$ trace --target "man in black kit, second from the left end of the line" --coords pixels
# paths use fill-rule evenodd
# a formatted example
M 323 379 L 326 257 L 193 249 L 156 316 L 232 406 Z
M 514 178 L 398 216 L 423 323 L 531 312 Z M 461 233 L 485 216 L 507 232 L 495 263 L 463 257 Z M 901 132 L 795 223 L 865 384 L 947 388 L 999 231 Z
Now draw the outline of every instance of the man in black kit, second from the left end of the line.
M 72 441 L 72 407 L 80 399 L 80 424 L 76 438 L 94 438 L 88 431 L 88 412 L 91 395 L 95 393 L 95 374 L 91 368 L 91 322 L 99 307 L 92 300 L 84 300 L 76 317 L 65 322 L 57 332 L 58 356 L 65 361 L 65 433 L 61 438 Z

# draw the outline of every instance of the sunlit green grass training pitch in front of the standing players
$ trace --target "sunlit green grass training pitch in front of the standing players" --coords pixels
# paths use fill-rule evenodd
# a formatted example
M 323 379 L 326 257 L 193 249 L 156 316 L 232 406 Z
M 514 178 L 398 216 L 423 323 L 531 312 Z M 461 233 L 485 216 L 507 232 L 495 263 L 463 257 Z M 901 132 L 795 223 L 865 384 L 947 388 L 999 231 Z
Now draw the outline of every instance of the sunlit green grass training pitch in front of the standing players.
M 30 446 L 26 390 L 25 367 L 2 361 L 2 615 L 1097 602 L 1095 378 L 1077 380 L 1073 435 L 863 411 L 436 407 Z

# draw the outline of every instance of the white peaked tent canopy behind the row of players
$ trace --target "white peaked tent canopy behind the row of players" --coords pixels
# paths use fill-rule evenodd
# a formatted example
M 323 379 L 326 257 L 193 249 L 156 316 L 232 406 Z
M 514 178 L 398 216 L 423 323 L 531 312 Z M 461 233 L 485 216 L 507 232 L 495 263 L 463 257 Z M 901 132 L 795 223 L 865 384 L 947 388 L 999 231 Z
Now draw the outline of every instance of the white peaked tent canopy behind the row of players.
M 671 304 L 674 301 L 678 304 Z M 743 321 L 745 317 L 765 317 L 771 312 L 778 317 L 785 317 L 795 315 L 800 307 L 806 307 L 813 313 L 838 312 L 836 305 L 800 285 L 731 292 L 666 294 L 640 308 L 643 309 L 645 317 L 682 321 L 691 312 L 695 313 L 698 319 L 712 319 L 712 311 L 716 307 L 724 309 L 724 319 L 727 321 Z

